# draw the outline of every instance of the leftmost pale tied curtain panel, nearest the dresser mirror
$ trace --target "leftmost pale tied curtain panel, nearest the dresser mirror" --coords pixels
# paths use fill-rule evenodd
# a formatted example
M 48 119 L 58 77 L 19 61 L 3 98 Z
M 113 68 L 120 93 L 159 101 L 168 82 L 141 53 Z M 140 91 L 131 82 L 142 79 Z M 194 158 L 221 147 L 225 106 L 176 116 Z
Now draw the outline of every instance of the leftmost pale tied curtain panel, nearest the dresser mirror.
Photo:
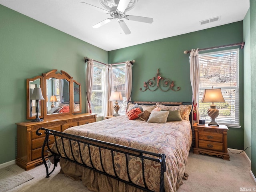
M 92 108 L 90 104 L 91 96 L 92 96 L 92 86 L 93 86 L 93 60 L 88 59 L 87 68 L 86 68 L 86 112 L 92 113 Z

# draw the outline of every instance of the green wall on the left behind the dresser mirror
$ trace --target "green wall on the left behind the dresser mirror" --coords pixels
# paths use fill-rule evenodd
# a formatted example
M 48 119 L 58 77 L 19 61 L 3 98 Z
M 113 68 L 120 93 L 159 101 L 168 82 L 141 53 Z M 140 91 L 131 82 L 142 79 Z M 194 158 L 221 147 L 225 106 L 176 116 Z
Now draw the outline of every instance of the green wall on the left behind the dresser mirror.
M 52 69 L 81 83 L 84 56 L 107 62 L 107 52 L 0 5 L 0 164 L 15 159 L 16 122 L 26 120 L 26 78 Z

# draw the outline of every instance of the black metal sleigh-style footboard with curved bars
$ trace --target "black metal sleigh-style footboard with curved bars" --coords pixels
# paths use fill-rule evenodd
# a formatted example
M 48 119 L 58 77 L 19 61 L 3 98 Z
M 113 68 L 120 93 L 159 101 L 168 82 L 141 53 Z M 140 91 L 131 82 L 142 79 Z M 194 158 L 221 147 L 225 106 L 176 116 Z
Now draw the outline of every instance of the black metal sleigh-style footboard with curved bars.
M 99 172 L 101 174 L 104 174 L 108 177 L 114 178 L 118 181 L 124 182 L 126 184 L 131 185 L 131 186 L 134 186 L 136 188 L 140 188 L 141 190 L 148 191 L 148 192 L 153 192 L 146 185 L 145 170 L 144 170 L 144 160 L 150 160 L 152 162 L 158 162 L 161 165 L 160 178 L 159 178 L 159 180 L 160 180 L 160 192 L 165 191 L 164 190 L 164 172 L 166 172 L 166 161 L 165 161 L 166 155 L 165 154 L 157 154 L 157 153 L 152 153 L 152 152 L 148 152 L 148 151 L 144 151 L 144 150 L 138 150 L 138 149 L 135 149 L 135 148 L 130 148 L 130 147 L 126 147 L 126 146 L 122 146 L 122 145 L 118 145 L 118 144 L 112 144 L 112 143 L 109 143 L 109 142 L 104 142 L 104 141 L 100 141 L 100 140 L 96 140 L 96 139 L 92 139 L 92 138 L 86 138 L 86 137 L 83 137 L 83 136 L 76 136 L 76 135 L 67 134 L 67 133 L 64 133 L 64 132 L 50 130 L 50 129 L 46 129 L 46 128 L 43 128 L 43 127 L 39 128 L 36 131 L 36 134 L 38 136 L 40 136 L 42 134 L 41 132 L 39 132 L 40 130 L 44 130 L 44 133 L 45 133 L 44 144 L 42 146 L 42 160 L 43 160 L 44 165 L 46 167 L 46 178 L 48 178 L 50 176 L 50 174 L 52 174 L 55 167 L 57 166 L 57 163 L 58 163 L 59 159 L 64 158 L 64 159 L 66 159 L 70 162 L 73 162 L 75 164 L 78 164 L 80 166 L 83 166 L 83 167 L 86 167 L 88 169 L 94 170 L 94 171 Z M 49 143 L 48 143 L 48 138 L 49 138 L 50 135 L 54 136 L 55 143 L 57 142 L 56 141 L 57 138 L 61 139 L 62 147 L 63 147 L 64 152 L 65 152 L 65 146 L 64 146 L 63 140 L 66 139 L 66 140 L 69 141 L 70 149 L 71 149 L 71 153 L 72 153 L 72 159 L 70 157 L 68 157 L 66 155 L 66 153 L 65 153 L 65 155 L 61 155 L 60 152 L 59 152 L 59 149 L 58 149 L 58 145 L 56 145 L 56 149 L 58 151 L 57 153 L 54 152 L 53 150 L 51 150 L 51 148 L 49 146 Z M 83 154 L 82 154 L 82 151 L 81 151 L 80 144 L 85 144 L 88 147 L 88 152 L 89 152 L 89 156 L 90 156 L 90 165 L 86 164 L 83 160 L 82 160 L 82 162 L 78 162 L 78 160 L 76 160 L 75 156 L 73 155 L 73 151 L 72 151 L 72 146 L 71 146 L 72 142 L 76 142 L 78 144 L 78 147 L 79 147 L 78 153 L 79 153 L 79 156 L 81 157 L 81 160 L 82 160 Z M 47 148 L 50 152 L 50 155 L 48 157 L 44 157 L 44 150 L 45 150 L 44 148 L 45 148 L 45 146 L 47 146 Z M 92 157 L 92 154 L 90 153 L 90 146 L 94 146 L 94 147 L 98 148 L 98 150 L 99 150 L 101 170 L 97 169 L 93 164 L 93 161 L 92 161 L 93 157 Z M 113 164 L 112 168 L 113 168 L 114 175 L 108 174 L 104 170 L 104 166 L 102 164 L 102 156 L 101 156 L 101 150 L 102 149 L 109 150 L 112 154 L 112 164 Z M 124 162 L 124 166 L 126 167 L 126 170 L 127 170 L 128 180 L 123 180 L 122 178 L 120 178 L 116 174 L 116 169 L 115 169 L 115 165 L 114 165 L 114 152 L 118 152 L 118 153 L 121 153 L 121 154 L 125 155 L 126 162 Z M 143 176 L 144 186 L 140 186 L 140 185 L 132 182 L 132 180 L 130 179 L 130 175 L 129 175 L 130 170 L 129 170 L 129 166 L 128 166 L 128 156 L 135 156 L 135 157 L 140 158 L 141 164 L 142 164 L 142 176 Z M 48 169 L 48 166 L 47 166 L 47 163 L 46 163 L 47 158 L 53 158 L 53 161 L 54 161 L 53 162 L 54 168 L 52 169 L 51 172 L 49 172 L 49 169 Z

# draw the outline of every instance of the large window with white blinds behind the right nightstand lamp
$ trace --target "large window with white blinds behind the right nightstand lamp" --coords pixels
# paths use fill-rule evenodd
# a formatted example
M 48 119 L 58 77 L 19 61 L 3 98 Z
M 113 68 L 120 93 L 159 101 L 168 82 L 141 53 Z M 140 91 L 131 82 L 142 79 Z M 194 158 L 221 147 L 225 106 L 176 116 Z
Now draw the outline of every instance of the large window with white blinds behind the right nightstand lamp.
M 211 103 L 201 102 L 204 89 L 221 88 L 226 103 L 214 103 L 220 111 L 216 122 L 226 125 L 239 125 L 238 53 L 239 49 L 199 55 L 198 104 L 202 119 L 210 121 L 207 110 Z

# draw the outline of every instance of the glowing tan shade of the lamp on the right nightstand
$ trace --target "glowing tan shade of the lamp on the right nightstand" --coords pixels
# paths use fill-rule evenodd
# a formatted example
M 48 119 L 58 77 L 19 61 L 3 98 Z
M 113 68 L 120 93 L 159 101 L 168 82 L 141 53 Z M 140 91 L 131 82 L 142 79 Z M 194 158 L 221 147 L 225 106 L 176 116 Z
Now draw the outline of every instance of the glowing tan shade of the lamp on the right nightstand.
M 201 102 L 225 102 L 221 89 L 206 89 L 204 90 L 204 95 L 202 97 Z

